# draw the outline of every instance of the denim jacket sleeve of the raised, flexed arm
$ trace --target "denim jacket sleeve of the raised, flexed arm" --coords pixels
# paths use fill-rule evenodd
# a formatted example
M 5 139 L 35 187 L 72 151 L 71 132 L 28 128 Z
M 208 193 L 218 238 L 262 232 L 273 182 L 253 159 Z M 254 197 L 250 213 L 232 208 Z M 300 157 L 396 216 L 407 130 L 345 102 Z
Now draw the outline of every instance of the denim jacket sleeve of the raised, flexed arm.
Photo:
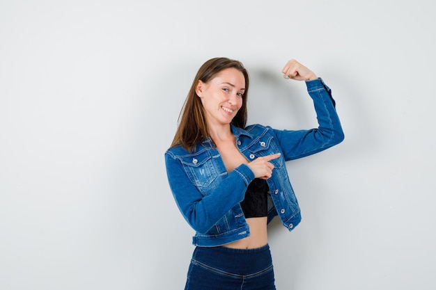
M 344 139 L 332 91 L 322 79 L 306 81 L 306 86 L 313 99 L 318 128 L 298 131 L 273 129 L 286 161 L 326 150 Z

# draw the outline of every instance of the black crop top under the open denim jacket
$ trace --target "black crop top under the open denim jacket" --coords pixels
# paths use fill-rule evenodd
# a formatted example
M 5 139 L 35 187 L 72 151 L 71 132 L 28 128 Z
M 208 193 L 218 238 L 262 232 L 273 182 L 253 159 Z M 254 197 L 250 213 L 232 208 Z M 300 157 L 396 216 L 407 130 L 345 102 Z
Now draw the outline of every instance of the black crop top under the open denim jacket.
M 253 179 L 245 191 L 240 205 L 245 218 L 259 218 L 268 215 L 267 193 L 270 190 L 265 179 Z

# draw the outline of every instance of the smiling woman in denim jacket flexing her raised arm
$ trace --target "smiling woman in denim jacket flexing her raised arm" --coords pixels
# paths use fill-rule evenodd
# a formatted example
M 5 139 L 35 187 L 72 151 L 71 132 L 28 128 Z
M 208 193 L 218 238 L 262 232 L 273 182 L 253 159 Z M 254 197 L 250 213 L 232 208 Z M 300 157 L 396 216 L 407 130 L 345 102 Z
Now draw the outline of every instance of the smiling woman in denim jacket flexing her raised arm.
M 295 60 L 285 79 L 306 81 L 318 129 L 246 127 L 249 76 L 242 63 L 212 58 L 198 70 L 165 153 L 169 185 L 196 245 L 185 290 L 275 289 L 267 223 L 301 220 L 285 161 L 340 143 L 330 89 Z

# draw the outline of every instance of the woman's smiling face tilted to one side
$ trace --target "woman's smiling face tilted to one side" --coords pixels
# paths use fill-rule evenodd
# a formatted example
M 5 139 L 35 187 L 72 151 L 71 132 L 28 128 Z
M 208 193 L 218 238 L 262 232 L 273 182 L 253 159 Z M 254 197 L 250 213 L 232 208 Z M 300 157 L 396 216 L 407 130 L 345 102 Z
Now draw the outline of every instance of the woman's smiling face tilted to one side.
M 230 124 L 242 106 L 244 91 L 244 74 L 233 67 L 221 70 L 207 83 L 198 81 L 196 94 L 201 98 L 208 127 Z

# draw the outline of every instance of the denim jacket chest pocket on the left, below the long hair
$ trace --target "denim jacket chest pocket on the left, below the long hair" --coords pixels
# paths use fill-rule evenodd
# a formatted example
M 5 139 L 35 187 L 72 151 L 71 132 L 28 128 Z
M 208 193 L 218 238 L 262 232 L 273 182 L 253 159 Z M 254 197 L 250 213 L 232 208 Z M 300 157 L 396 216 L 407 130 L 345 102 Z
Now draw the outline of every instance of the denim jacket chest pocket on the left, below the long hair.
M 187 176 L 194 186 L 210 187 L 212 182 L 217 178 L 214 161 L 207 151 L 196 155 L 184 156 L 181 161 Z

